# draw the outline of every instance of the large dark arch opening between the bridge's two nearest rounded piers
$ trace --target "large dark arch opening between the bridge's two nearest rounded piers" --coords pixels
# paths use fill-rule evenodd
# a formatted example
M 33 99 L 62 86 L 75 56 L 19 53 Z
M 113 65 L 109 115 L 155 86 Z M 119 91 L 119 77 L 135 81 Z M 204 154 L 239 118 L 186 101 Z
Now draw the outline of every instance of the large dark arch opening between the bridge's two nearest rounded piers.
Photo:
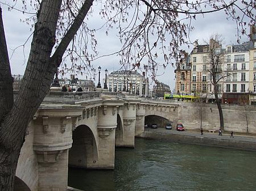
M 72 139 L 68 164 L 73 167 L 93 168 L 98 161 L 98 144 L 93 131 L 87 125 L 79 125 L 73 131 Z

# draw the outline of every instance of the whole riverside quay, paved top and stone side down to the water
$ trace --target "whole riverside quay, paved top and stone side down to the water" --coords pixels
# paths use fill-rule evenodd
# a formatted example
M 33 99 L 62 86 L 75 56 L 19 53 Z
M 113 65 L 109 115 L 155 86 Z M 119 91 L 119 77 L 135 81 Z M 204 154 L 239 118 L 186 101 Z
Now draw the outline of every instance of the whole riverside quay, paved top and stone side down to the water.
M 256 151 L 256 136 L 247 134 L 233 134 L 234 138 L 230 137 L 230 133 L 216 133 L 200 131 L 176 131 L 176 129 L 167 130 L 164 128 L 144 130 L 144 133 L 139 137 L 148 139 L 167 139 L 173 142 L 192 143 L 197 145 L 208 145 L 217 147 L 238 148 L 244 150 Z

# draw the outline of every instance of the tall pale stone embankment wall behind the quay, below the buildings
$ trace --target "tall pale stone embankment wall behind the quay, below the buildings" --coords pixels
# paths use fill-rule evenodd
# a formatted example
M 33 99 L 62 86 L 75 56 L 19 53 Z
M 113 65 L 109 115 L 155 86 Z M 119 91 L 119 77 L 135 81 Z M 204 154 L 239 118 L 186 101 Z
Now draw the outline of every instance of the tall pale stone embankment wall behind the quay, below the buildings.
M 254 105 L 221 105 L 224 116 L 224 130 L 237 133 L 256 134 L 256 107 Z M 180 102 L 179 121 L 185 129 L 218 130 L 220 117 L 216 104 Z M 247 117 L 247 122 L 246 122 Z

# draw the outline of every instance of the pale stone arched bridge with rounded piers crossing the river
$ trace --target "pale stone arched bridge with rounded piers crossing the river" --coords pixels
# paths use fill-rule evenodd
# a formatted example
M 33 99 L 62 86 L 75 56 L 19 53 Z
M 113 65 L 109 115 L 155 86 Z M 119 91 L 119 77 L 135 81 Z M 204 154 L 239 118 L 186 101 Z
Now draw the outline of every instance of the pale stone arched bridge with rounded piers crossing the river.
M 14 190 L 67 190 L 68 165 L 114 169 L 115 146 L 134 147 L 147 116 L 177 121 L 178 107 L 116 92 L 50 92 L 28 125 Z

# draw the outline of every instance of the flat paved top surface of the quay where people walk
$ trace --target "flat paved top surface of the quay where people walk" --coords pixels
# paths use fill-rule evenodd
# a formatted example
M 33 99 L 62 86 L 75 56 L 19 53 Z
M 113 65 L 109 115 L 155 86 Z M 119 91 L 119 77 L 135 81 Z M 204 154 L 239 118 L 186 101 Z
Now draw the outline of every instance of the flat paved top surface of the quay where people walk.
M 218 131 L 215 133 L 209 133 L 208 130 L 205 130 L 203 135 L 200 134 L 200 131 L 177 131 L 175 128 L 171 130 L 167 130 L 165 128 L 157 128 L 157 129 L 151 129 L 151 128 L 145 128 L 145 131 L 150 131 L 152 133 L 158 133 L 158 134 L 174 134 L 174 135 L 187 135 L 192 136 L 196 138 L 215 138 L 215 139 L 233 139 L 236 141 L 246 141 L 246 142 L 256 142 L 256 136 L 254 135 L 246 135 L 246 134 L 236 134 L 234 133 L 234 138 L 230 138 L 229 133 L 222 133 L 222 135 L 218 135 Z

